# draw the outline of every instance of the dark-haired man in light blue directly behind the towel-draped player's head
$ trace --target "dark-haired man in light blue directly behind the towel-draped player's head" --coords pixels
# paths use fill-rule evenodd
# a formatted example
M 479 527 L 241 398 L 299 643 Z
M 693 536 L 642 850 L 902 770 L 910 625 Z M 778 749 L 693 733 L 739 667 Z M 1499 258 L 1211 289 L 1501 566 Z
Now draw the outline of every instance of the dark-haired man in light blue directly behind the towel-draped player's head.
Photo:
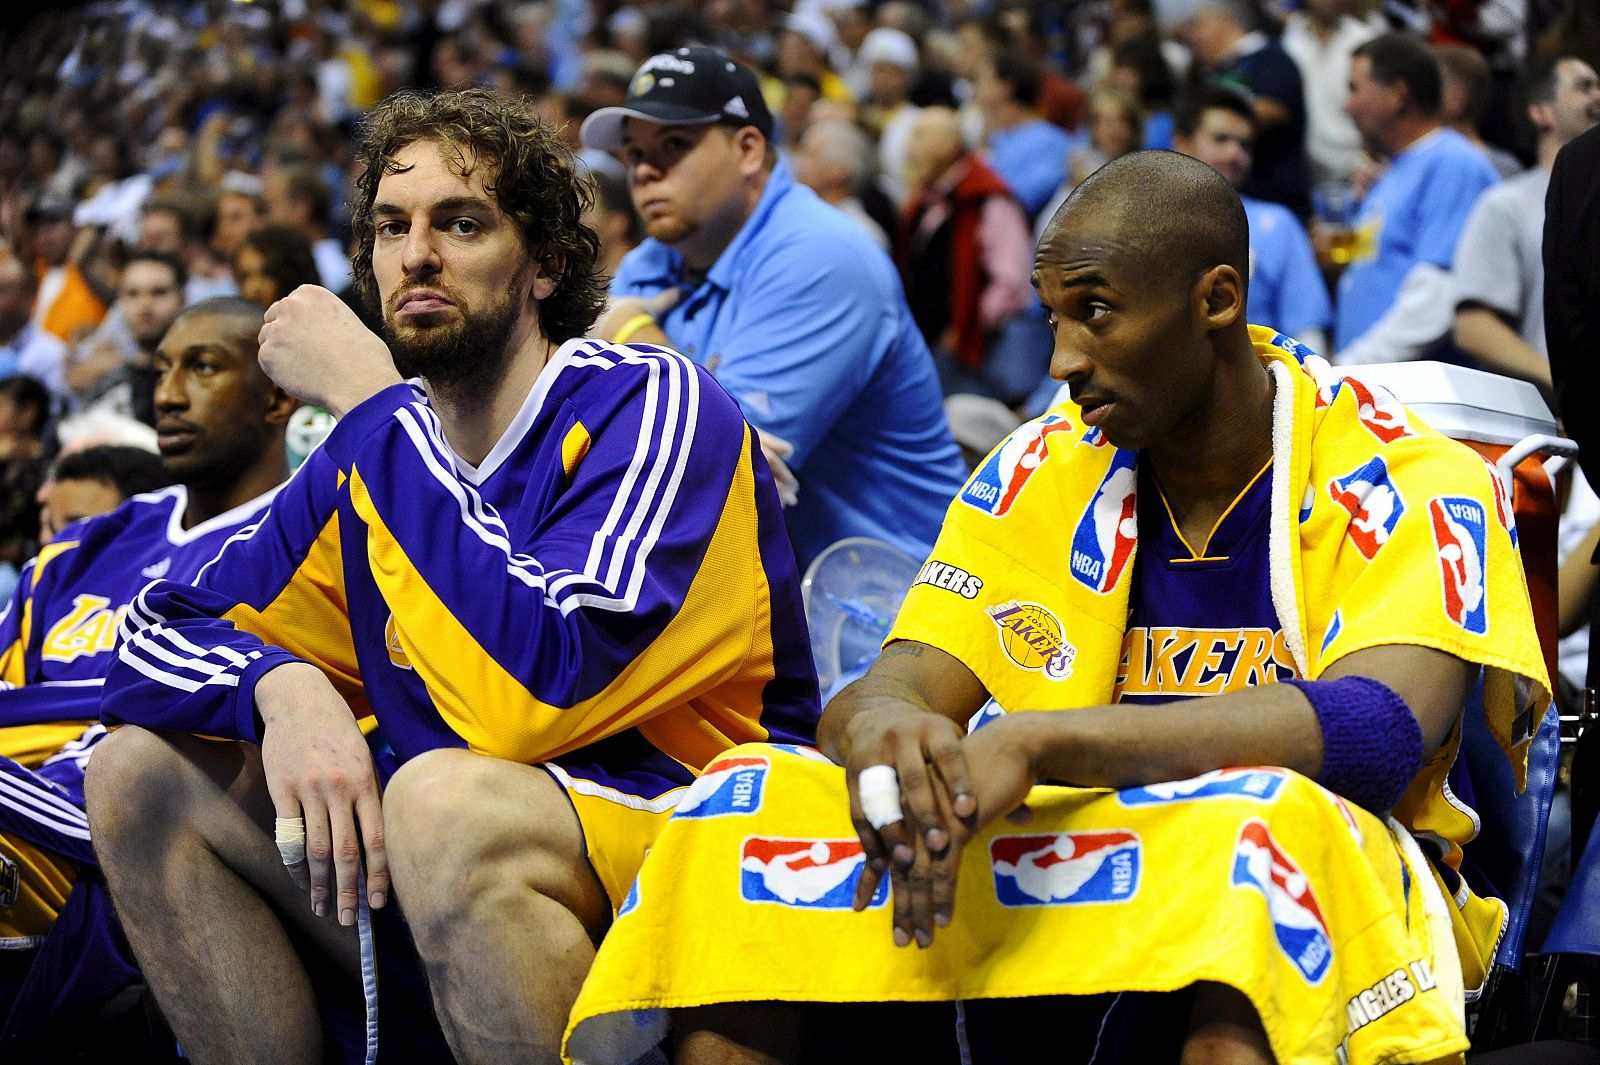
M 1192 155 L 1238 189 L 1250 176 L 1256 112 L 1237 88 L 1203 90 L 1178 115 L 1173 147 Z M 1293 336 L 1314 352 L 1326 350 L 1333 305 L 1317 269 L 1306 229 L 1282 203 L 1240 195 L 1250 221 L 1246 315 Z

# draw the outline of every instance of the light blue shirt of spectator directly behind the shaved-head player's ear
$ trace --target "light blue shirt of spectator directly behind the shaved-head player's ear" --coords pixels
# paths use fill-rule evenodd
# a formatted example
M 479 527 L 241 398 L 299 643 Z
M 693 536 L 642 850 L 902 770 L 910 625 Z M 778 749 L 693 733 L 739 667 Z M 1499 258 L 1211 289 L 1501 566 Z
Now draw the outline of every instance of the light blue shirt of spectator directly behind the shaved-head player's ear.
M 1333 302 L 1306 229 L 1282 203 L 1240 200 L 1250 219 L 1248 318 L 1290 336 L 1326 331 L 1333 325 Z

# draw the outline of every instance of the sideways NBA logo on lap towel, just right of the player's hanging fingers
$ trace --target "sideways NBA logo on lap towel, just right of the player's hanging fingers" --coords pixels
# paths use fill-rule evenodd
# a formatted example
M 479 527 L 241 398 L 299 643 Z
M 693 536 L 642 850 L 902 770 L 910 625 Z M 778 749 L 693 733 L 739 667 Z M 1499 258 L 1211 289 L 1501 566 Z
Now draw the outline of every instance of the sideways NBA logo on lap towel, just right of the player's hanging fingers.
M 1142 849 L 1128 830 L 1000 836 L 989 844 L 1003 907 L 1126 902 L 1139 891 Z

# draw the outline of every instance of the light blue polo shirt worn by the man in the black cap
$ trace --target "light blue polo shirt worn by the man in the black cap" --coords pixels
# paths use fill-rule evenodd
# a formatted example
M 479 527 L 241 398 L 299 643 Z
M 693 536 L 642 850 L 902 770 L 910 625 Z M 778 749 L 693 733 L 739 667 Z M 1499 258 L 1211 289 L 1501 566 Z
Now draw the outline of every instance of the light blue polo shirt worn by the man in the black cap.
M 872 536 L 933 550 L 965 480 L 928 345 L 888 256 L 779 162 L 755 211 L 698 286 L 658 240 L 630 251 L 614 296 L 691 289 L 666 313 L 760 430 L 794 445 L 800 502 L 784 510 L 800 564 Z

